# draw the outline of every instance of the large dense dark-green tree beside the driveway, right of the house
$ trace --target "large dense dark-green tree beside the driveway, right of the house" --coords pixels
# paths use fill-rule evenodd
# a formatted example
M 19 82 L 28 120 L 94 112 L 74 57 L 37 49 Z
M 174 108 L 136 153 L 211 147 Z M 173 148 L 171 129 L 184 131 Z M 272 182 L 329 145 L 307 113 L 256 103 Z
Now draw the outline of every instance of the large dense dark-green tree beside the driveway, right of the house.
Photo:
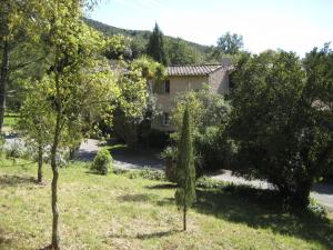
M 235 170 L 275 184 L 287 206 L 305 208 L 315 178 L 332 156 L 332 112 L 319 109 L 294 53 L 243 56 L 232 74 L 231 134 Z M 312 92 L 312 91 L 311 91 Z

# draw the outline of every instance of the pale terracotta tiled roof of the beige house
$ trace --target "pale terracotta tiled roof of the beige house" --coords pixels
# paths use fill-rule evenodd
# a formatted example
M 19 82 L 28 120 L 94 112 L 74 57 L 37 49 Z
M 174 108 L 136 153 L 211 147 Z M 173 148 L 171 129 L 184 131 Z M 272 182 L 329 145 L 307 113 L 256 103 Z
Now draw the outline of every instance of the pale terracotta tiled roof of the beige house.
M 222 64 L 169 66 L 167 72 L 168 76 L 208 76 L 222 67 Z

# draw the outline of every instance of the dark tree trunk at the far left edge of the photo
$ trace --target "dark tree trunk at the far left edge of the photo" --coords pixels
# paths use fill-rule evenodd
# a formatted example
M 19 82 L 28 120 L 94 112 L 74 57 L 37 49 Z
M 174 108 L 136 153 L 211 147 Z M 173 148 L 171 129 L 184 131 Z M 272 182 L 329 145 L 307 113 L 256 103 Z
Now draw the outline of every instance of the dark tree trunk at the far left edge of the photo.
M 2 62 L 0 69 L 0 133 L 2 132 L 4 106 L 6 106 L 6 90 L 9 77 L 9 42 L 4 39 Z

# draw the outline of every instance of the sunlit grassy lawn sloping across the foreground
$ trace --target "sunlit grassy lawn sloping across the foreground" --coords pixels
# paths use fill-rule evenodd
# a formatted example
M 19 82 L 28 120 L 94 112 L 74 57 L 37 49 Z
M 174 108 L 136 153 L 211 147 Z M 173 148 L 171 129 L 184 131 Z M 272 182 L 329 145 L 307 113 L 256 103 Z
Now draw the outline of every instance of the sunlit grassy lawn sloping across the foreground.
M 21 162 L 0 159 L 0 249 L 50 242 L 51 171 L 38 186 L 37 167 Z M 63 249 L 333 249 L 332 220 L 284 213 L 232 189 L 199 189 L 182 232 L 174 187 L 130 176 L 95 176 L 83 163 L 60 170 Z

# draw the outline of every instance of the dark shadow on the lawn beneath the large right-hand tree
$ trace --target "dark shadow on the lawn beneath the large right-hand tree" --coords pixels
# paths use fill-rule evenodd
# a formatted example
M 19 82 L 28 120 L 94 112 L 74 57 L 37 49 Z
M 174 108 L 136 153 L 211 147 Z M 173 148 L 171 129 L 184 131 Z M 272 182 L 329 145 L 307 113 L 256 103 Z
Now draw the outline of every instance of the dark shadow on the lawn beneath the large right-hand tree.
M 223 190 L 196 190 L 194 209 L 226 221 L 270 229 L 333 249 L 333 223 L 330 220 L 311 212 L 284 212 L 281 204 L 278 193 L 272 190 L 225 187 Z

